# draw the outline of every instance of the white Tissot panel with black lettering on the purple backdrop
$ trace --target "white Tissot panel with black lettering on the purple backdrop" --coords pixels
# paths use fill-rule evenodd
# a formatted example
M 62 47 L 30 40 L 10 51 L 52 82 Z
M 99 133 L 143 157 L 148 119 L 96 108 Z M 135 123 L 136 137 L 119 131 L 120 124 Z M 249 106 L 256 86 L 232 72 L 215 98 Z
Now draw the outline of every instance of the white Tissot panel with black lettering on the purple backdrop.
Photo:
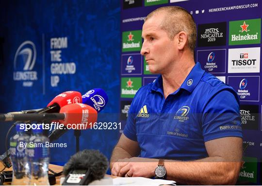
M 229 49 L 229 73 L 260 72 L 260 47 Z

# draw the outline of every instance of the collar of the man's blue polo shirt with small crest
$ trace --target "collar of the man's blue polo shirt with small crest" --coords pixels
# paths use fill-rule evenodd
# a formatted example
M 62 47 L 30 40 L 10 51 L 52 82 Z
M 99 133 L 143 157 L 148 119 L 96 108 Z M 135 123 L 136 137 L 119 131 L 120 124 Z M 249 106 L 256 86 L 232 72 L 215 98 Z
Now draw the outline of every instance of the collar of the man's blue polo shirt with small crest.
M 175 91 L 174 93 L 178 92 L 181 88 L 191 93 L 196 88 L 204 72 L 205 71 L 201 68 L 200 63 L 197 62 L 196 65 L 192 68 L 192 70 L 188 74 L 188 76 L 186 77 L 185 81 L 180 86 L 180 88 L 177 91 Z M 155 82 L 152 85 L 151 90 L 161 92 L 163 94 L 162 75 L 159 75 L 158 78 L 155 80 Z

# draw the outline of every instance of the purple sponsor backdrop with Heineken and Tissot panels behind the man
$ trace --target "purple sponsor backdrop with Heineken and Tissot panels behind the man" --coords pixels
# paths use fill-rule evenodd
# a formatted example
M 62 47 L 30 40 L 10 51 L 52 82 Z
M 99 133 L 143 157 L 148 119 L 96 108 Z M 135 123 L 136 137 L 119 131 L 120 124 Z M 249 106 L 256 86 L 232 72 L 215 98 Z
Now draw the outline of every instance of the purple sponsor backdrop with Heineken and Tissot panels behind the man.
M 121 0 L 121 120 L 126 120 L 137 90 L 157 77 L 140 55 L 144 19 L 156 8 L 169 5 L 185 8 L 197 23 L 195 61 L 238 93 L 247 145 L 239 181 L 261 184 L 260 0 Z

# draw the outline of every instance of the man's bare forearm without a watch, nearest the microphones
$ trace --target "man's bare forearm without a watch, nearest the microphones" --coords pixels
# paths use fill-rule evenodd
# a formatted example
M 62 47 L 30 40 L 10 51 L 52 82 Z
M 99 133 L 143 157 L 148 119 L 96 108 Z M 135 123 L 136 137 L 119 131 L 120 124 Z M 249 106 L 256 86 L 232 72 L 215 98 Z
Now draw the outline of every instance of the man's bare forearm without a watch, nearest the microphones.
M 139 152 L 140 152 L 140 147 L 138 145 L 138 142 L 133 141 L 128 137 L 126 137 L 124 134 L 122 134 L 112 152 L 112 156 L 110 160 L 110 169 L 113 168 L 115 162 L 118 163 L 124 162 L 125 161 L 124 159 L 135 157 L 139 155 Z M 118 171 L 118 169 L 120 169 L 119 165 L 114 167 L 112 172 L 113 175 L 116 175 L 114 174 L 115 169 L 117 169 Z

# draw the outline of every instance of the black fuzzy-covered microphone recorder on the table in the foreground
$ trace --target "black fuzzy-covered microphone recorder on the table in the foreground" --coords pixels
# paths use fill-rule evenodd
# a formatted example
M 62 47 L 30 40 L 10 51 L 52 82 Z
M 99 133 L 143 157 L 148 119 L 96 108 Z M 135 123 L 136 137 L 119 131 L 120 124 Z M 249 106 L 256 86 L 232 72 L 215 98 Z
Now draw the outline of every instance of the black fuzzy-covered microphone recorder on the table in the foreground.
M 100 180 L 106 174 L 108 169 L 108 160 L 105 155 L 97 150 L 83 150 L 71 156 L 63 169 L 66 179 L 62 185 L 85 185 Z M 86 170 L 86 171 L 83 171 Z M 79 183 L 71 184 L 71 177 L 79 172 L 85 172 Z

